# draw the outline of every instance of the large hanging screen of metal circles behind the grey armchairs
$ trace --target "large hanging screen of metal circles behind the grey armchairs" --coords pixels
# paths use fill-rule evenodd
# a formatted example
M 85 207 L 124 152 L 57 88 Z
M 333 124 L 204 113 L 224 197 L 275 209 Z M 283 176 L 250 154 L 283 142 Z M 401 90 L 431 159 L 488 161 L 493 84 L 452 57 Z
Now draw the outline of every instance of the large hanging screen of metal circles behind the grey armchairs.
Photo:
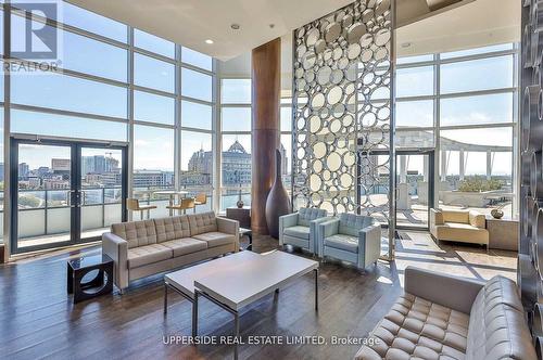
M 294 31 L 294 206 L 387 215 L 390 47 L 390 0 L 356 1 Z

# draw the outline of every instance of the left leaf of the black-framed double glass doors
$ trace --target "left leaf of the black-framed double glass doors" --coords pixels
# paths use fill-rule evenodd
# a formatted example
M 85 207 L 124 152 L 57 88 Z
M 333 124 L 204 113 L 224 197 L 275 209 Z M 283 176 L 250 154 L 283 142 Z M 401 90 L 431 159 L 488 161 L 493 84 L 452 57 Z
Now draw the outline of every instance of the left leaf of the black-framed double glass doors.
M 75 241 L 72 223 L 76 200 L 73 152 L 70 144 L 38 142 L 17 142 L 12 149 L 12 240 L 15 252 L 63 246 Z

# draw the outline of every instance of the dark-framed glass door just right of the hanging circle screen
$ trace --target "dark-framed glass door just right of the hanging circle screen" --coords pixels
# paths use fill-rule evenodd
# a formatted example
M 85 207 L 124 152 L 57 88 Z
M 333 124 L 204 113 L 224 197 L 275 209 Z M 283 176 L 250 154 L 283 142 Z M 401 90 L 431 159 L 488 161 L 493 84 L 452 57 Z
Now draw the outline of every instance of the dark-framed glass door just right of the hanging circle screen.
M 433 152 L 396 153 L 396 228 L 428 229 L 433 168 Z

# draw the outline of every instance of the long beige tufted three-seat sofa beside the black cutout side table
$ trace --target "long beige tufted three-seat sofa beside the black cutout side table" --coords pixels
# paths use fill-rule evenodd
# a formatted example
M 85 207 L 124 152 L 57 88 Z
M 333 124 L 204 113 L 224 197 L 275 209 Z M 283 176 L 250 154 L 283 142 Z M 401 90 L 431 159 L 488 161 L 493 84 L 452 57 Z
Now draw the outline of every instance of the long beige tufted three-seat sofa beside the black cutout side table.
M 239 222 L 215 213 L 115 223 L 102 235 L 114 261 L 114 283 L 130 281 L 239 250 Z

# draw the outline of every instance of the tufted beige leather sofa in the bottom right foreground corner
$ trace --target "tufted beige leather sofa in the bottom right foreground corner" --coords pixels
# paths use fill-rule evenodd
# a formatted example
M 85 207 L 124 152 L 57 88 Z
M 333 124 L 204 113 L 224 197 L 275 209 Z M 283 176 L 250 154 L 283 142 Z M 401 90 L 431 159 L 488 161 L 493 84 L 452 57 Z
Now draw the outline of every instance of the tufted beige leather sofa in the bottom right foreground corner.
M 516 284 L 487 283 L 407 267 L 405 293 L 357 360 L 536 359 Z

